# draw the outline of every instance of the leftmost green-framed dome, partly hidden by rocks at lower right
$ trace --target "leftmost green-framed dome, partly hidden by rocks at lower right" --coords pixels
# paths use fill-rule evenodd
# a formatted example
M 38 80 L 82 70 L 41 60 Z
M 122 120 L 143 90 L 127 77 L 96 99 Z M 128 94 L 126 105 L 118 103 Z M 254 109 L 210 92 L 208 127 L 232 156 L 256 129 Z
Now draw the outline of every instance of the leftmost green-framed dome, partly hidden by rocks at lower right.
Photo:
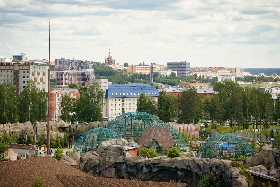
M 86 131 L 75 144 L 74 153 L 86 153 L 98 149 L 98 145 L 106 140 L 118 139 L 121 136 L 107 128 L 95 128 Z

